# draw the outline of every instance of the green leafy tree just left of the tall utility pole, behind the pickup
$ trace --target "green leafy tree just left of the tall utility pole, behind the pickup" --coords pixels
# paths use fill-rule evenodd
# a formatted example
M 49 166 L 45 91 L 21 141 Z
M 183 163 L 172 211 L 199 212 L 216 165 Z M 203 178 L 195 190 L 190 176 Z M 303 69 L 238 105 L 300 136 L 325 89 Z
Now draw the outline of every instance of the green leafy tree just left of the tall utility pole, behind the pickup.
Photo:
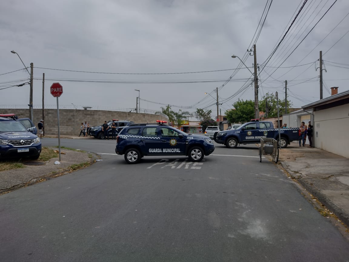
M 235 109 L 225 111 L 225 115 L 230 123 L 244 123 L 254 119 L 254 101 L 239 99 L 233 103 L 233 107 Z

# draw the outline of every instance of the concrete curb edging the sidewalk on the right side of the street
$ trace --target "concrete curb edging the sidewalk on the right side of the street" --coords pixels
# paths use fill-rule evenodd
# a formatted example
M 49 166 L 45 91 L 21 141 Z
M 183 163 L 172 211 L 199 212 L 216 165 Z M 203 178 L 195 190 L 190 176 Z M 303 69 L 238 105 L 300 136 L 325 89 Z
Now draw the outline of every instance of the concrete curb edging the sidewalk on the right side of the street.
M 308 182 L 305 178 L 298 178 L 297 174 L 294 174 L 290 171 L 285 165 L 283 161 L 280 161 L 280 165 L 285 169 L 292 178 L 296 179 L 299 184 L 301 184 L 310 194 L 316 197 L 323 205 L 326 206 L 331 212 L 333 212 L 344 224 L 349 226 L 349 214 L 346 213 L 344 209 L 340 206 L 336 205 L 329 199 L 325 194 L 321 192 L 318 188 L 316 188 L 313 184 Z

